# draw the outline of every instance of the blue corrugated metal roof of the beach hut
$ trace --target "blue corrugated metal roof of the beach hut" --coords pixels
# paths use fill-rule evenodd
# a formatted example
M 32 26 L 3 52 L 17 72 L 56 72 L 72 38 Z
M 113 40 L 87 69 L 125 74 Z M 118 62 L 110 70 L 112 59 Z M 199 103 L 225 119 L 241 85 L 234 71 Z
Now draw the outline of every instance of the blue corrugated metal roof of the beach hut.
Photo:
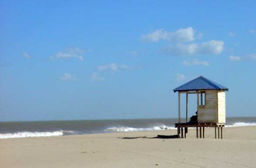
M 173 89 L 176 91 L 198 91 L 198 90 L 225 90 L 228 91 L 228 88 L 217 84 L 214 81 L 211 81 L 203 76 L 197 77 L 192 81 L 187 82 L 179 87 Z

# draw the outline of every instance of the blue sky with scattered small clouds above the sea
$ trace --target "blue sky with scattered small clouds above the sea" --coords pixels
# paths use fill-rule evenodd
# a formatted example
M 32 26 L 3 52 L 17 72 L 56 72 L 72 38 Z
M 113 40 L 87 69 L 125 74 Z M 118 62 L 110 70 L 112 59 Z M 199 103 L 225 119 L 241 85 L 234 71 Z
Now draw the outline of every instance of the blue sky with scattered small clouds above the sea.
M 0 121 L 176 118 L 172 90 L 200 75 L 230 89 L 228 117 L 255 116 L 255 7 L 0 1 Z

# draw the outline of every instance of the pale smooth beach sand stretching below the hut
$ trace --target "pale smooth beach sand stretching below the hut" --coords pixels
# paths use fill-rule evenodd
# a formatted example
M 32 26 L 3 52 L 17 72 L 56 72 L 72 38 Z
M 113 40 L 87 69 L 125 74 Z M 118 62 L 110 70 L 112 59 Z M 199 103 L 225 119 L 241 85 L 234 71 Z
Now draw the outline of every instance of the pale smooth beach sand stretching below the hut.
M 0 139 L 1 168 L 255 168 L 256 126 L 224 128 L 224 139 L 189 129 L 186 139 L 156 137 L 176 130 Z

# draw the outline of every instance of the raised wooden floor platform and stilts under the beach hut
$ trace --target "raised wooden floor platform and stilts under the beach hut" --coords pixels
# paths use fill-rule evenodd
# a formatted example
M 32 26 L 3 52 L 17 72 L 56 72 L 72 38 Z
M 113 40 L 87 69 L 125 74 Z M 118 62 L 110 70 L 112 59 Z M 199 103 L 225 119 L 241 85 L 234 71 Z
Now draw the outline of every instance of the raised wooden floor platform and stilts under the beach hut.
M 197 138 L 198 138 L 198 131 L 199 131 L 199 137 L 204 138 L 204 131 L 205 128 L 208 127 L 214 127 L 215 128 L 215 139 L 217 139 L 217 129 L 218 129 L 218 139 L 223 138 L 223 127 L 225 127 L 225 124 L 223 123 L 175 123 L 175 128 L 177 128 L 177 135 L 181 138 L 186 138 L 186 134 L 188 133 L 188 128 L 196 128 L 197 129 Z M 183 128 L 184 128 L 184 137 L 183 137 Z M 221 128 L 221 130 L 220 130 Z M 202 133 L 203 131 L 203 133 Z M 220 136 L 221 134 L 221 136 Z

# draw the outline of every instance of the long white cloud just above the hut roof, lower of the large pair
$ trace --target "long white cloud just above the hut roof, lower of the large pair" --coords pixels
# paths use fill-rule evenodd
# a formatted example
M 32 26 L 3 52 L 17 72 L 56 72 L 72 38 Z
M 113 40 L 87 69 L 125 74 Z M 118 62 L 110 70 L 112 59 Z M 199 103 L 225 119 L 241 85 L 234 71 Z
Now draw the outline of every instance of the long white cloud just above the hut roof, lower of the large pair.
M 223 51 L 224 42 L 211 40 L 201 44 L 170 44 L 165 48 L 165 52 L 170 55 L 199 55 L 199 54 L 220 54 Z

